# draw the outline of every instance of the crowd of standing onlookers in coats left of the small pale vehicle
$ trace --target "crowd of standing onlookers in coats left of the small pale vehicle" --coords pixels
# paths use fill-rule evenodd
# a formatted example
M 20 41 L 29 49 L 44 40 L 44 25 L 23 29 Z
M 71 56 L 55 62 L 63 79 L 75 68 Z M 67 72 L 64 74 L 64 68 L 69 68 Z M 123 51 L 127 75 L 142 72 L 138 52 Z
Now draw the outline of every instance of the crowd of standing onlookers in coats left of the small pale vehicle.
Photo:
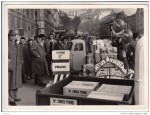
M 52 50 L 71 50 L 71 39 L 64 35 L 54 37 L 49 34 L 34 36 L 34 39 L 20 37 L 18 31 L 8 33 L 8 68 L 9 68 L 9 104 L 16 105 L 18 88 L 27 80 L 34 79 L 34 84 L 43 86 L 41 76 L 52 75 Z M 22 77 L 21 77 L 22 76 Z

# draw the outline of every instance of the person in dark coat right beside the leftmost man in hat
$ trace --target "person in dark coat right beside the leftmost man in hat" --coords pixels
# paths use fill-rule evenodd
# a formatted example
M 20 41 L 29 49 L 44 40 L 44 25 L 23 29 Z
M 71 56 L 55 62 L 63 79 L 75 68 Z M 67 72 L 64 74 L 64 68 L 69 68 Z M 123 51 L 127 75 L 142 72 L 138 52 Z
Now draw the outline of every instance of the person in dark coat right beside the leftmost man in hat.
M 22 65 L 22 83 L 26 83 L 26 79 L 30 79 L 30 56 L 25 37 L 20 38 L 20 47 L 23 53 L 23 65 Z

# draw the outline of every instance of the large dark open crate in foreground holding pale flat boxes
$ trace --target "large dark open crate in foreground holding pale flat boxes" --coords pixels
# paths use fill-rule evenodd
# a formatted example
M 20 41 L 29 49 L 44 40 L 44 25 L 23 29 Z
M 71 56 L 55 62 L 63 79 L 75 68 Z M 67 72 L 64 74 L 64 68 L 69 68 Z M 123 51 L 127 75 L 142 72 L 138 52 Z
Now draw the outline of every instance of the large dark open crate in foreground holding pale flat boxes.
M 123 101 L 112 101 L 104 99 L 85 98 L 77 96 L 63 95 L 63 87 L 69 84 L 71 81 L 93 81 L 102 84 L 116 84 L 116 85 L 129 85 L 132 86 L 131 93 L 128 100 Z M 61 105 L 130 105 L 133 104 L 133 86 L 134 80 L 118 80 L 118 79 L 103 79 L 96 77 L 78 77 L 69 76 L 49 87 L 36 92 L 36 105 L 56 105 L 61 102 Z M 57 103 L 51 100 L 57 100 Z

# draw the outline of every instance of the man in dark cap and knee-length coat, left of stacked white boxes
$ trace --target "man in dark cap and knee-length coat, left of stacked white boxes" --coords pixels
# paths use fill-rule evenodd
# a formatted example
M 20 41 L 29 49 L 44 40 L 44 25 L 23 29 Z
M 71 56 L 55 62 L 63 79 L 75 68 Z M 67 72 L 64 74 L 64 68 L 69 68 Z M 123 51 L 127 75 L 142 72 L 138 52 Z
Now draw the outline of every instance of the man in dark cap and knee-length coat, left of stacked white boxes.
M 37 36 L 36 40 L 31 46 L 32 54 L 32 73 L 35 75 L 35 84 L 43 85 L 41 77 L 44 75 L 49 75 L 48 66 L 45 58 L 45 48 L 44 48 L 45 35 L 40 34 Z

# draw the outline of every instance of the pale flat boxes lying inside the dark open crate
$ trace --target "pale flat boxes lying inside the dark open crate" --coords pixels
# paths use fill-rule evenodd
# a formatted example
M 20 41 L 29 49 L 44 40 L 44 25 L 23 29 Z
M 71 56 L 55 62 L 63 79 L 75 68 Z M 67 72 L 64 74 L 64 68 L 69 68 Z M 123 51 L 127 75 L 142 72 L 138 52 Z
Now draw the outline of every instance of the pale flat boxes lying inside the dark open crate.
M 104 100 L 125 101 L 130 97 L 132 86 L 102 84 L 89 81 L 72 81 L 63 87 L 67 96 L 87 97 Z

